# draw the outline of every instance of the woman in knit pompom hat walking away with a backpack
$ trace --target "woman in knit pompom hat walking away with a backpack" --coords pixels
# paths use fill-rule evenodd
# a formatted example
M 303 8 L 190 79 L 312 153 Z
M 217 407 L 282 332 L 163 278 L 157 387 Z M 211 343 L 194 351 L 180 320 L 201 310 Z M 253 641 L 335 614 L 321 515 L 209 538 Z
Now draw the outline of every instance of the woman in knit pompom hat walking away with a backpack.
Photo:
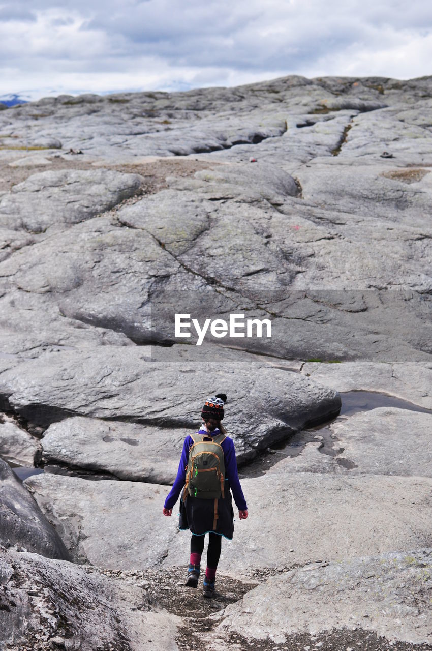
M 192 533 L 186 581 L 186 585 L 191 588 L 198 585 L 204 538 L 208 533 L 207 567 L 203 582 L 205 597 L 212 597 L 215 592 L 222 536 L 232 540 L 234 533 L 230 489 L 239 510 L 239 518 L 246 519 L 248 516 L 237 474 L 234 443 L 226 436 L 221 423 L 225 402 L 224 393 L 206 400 L 201 411 L 204 424 L 194 436 L 185 438 L 177 477 L 163 506 L 163 514 L 170 516 L 184 486 L 180 501 L 179 529 L 189 529 Z

